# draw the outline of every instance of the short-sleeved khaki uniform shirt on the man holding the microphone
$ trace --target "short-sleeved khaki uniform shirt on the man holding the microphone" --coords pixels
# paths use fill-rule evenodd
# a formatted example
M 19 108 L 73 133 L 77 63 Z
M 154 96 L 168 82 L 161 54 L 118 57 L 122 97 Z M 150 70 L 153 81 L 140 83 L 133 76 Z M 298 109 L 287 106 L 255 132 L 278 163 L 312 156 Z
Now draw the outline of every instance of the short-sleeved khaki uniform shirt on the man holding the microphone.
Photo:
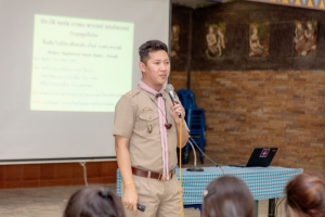
M 170 129 L 166 129 L 169 153 L 168 166 L 169 170 L 172 170 L 178 161 L 178 132 L 170 110 L 170 97 L 164 92 L 162 98 L 166 106 L 166 118 L 169 124 L 172 124 Z M 129 152 L 133 167 L 161 173 L 162 148 L 157 103 L 154 94 L 139 87 L 123 94 L 115 106 L 113 135 L 130 139 Z

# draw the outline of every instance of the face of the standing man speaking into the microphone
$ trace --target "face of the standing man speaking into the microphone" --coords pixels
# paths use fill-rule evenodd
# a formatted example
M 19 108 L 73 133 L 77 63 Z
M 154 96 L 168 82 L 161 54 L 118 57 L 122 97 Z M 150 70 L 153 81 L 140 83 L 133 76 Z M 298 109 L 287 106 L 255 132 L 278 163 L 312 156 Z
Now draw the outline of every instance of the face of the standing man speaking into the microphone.
M 151 52 L 146 63 L 140 62 L 139 66 L 143 73 L 143 81 L 159 91 L 170 73 L 170 61 L 167 52 L 164 50 Z

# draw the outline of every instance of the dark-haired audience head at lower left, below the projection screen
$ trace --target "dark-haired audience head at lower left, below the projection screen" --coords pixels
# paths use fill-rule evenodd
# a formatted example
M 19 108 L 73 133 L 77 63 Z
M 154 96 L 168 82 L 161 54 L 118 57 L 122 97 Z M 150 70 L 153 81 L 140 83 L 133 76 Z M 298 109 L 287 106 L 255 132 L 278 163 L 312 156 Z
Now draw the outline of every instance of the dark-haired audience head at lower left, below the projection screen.
M 87 187 L 69 199 L 64 217 L 125 217 L 120 197 L 107 188 Z

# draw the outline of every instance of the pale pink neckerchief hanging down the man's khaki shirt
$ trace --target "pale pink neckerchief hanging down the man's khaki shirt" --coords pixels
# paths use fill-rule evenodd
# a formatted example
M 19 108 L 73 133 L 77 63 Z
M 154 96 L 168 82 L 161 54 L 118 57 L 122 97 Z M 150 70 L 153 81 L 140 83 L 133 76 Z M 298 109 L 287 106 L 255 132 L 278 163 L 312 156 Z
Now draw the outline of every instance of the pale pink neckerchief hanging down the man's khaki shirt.
M 156 91 L 153 88 L 148 87 L 142 80 L 139 80 L 138 86 L 143 90 L 153 93 L 156 95 L 157 93 L 164 93 L 164 87 Z M 160 129 L 160 138 L 161 138 L 161 148 L 162 148 L 162 175 L 167 180 L 169 180 L 169 168 L 168 168 L 168 143 L 167 143 L 167 130 L 165 127 L 165 117 L 166 117 L 166 108 L 165 108 L 165 101 L 162 97 L 157 98 L 157 105 L 158 105 L 158 116 L 159 116 L 159 129 Z

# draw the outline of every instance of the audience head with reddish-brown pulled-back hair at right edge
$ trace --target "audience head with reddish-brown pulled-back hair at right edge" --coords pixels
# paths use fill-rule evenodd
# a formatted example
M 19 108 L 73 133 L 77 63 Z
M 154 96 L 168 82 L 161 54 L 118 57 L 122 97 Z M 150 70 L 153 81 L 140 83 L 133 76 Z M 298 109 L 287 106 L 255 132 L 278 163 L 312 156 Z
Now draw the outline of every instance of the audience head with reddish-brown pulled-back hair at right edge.
M 325 181 L 317 175 L 300 174 L 286 186 L 286 212 L 297 217 L 325 216 Z

